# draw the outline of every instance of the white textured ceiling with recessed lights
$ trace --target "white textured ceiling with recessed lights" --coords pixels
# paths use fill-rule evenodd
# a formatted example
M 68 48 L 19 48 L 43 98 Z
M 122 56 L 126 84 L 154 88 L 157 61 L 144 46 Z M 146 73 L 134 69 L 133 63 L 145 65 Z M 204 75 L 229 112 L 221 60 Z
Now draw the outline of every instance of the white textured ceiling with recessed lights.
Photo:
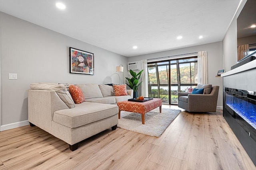
M 64 3 L 66 9 L 57 9 L 56 2 Z M 222 41 L 239 2 L 0 0 L 0 11 L 131 57 Z M 180 35 L 183 38 L 176 39 Z M 200 35 L 204 37 L 198 39 Z

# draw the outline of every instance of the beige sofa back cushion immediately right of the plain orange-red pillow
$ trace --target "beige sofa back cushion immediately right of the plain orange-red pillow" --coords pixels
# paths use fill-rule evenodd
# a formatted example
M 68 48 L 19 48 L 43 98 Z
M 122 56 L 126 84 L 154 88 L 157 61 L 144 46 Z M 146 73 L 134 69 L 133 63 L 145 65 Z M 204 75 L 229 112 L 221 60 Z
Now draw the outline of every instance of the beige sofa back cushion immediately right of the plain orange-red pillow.
M 75 86 L 82 90 L 85 99 L 103 98 L 98 84 L 75 84 Z

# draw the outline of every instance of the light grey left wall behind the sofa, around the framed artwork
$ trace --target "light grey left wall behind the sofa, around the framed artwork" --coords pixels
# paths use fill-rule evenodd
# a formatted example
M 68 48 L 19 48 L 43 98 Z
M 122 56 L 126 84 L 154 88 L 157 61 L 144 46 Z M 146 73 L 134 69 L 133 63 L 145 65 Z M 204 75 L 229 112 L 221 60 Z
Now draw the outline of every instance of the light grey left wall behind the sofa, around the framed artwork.
M 127 57 L 2 12 L 0 37 L 0 125 L 28 119 L 27 90 L 31 83 L 118 83 L 116 66 L 123 64 L 127 70 Z M 69 47 L 94 53 L 94 75 L 69 73 Z M 18 73 L 18 80 L 8 80 L 8 73 Z

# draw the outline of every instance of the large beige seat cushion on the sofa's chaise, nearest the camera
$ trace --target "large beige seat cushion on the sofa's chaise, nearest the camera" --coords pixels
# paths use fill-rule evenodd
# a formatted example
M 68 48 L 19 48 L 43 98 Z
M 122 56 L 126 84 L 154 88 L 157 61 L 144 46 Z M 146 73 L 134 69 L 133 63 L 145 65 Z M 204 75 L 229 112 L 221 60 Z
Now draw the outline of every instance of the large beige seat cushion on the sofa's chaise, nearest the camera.
M 83 102 L 76 104 L 72 109 L 55 111 L 53 121 L 66 127 L 76 128 L 116 114 L 118 114 L 116 105 Z

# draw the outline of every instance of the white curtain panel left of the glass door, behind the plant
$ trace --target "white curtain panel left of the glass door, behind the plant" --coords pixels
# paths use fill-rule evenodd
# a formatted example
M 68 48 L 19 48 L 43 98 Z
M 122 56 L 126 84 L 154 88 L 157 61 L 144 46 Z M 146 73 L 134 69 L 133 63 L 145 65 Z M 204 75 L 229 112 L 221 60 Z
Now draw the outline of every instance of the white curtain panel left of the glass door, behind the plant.
M 144 70 L 141 74 L 141 96 L 148 97 L 148 61 L 147 59 L 140 61 L 140 69 Z

